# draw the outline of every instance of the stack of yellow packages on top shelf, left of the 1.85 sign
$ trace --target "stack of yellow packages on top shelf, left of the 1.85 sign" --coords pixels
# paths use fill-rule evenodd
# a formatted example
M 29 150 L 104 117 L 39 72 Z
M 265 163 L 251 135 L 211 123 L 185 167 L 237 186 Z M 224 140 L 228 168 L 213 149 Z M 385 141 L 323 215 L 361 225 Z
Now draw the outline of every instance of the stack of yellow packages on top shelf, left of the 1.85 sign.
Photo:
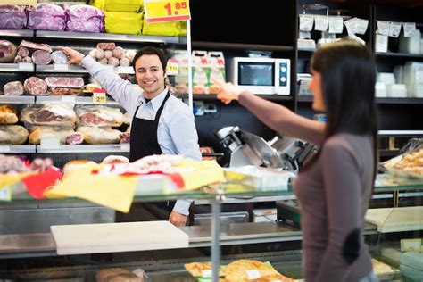
M 142 0 L 91 0 L 90 4 L 104 11 L 104 31 L 119 34 L 141 34 Z

